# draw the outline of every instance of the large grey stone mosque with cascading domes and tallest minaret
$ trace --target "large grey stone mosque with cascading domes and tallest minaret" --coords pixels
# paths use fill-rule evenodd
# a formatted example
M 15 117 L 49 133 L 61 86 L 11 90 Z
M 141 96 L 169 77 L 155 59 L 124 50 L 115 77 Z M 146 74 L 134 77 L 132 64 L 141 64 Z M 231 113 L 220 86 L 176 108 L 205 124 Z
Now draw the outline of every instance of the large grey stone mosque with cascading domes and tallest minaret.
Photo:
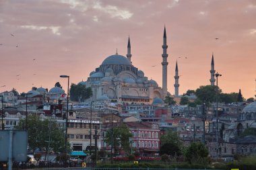
M 92 88 L 92 100 L 117 99 L 121 103 L 152 103 L 167 95 L 167 44 L 164 28 L 162 54 L 162 87 L 148 79 L 131 61 L 131 43 L 128 39 L 127 55 L 118 53 L 108 56 L 100 67 L 90 73 L 87 81 L 79 83 Z

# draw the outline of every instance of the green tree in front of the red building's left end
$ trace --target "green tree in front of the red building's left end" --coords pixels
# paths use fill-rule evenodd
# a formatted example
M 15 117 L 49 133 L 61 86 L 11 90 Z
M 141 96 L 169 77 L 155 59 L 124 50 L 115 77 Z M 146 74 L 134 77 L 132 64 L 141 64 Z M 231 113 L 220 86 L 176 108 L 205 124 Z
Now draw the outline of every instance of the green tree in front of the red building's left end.
M 121 146 L 121 149 L 126 153 L 129 153 L 131 150 L 129 138 L 131 138 L 131 136 L 129 128 L 125 124 L 121 124 L 120 126 L 109 128 L 106 131 L 106 138 L 104 139 L 104 142 L 108 145 L 113 144 L 115 153 L 117 153 L 119 146 Z

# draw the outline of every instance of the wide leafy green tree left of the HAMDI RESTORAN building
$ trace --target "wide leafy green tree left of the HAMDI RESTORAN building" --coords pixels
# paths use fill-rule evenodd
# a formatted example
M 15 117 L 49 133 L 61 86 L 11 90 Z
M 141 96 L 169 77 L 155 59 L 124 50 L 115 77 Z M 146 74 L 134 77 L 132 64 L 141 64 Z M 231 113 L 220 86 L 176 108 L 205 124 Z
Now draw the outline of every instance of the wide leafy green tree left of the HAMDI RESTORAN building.
M 50 149 L 55 153 L 65 151 L 65 133 L 55 120 L 41 120 L 39 116 L 28 116 L 28 146 L 32 151 L 39 148 L 47 151 L 50 138 Z M 25 120 L 20 120 L 16 129 L 24 129 Z M 69 148 L 69 146 L 67 147 Z

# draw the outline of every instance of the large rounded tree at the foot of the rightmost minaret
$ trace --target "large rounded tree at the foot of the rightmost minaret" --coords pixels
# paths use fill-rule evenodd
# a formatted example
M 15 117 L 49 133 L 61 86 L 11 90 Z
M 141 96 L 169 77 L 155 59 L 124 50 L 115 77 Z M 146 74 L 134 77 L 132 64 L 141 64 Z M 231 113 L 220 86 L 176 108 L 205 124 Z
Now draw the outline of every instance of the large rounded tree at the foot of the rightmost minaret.
M 209 104 L 216 101 L 216 91 L 217 91 L 217 86 L 205 85 L 205 86 L 200 86 L 198 89 L 196 89 L 195 95 L 201 101 Z M 221 89 L 219 89 L 219 93 L 220 92 L 221 92 Z

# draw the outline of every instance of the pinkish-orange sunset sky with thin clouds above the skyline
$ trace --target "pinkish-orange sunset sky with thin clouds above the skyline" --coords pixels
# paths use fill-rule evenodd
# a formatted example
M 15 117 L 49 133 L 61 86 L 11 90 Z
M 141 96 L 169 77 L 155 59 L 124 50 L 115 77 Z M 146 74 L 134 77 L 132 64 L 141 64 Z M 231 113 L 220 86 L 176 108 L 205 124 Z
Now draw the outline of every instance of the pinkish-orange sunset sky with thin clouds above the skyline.
M 162 37 L 168 44 L 168 91 L 210 85 L 210 64 L 224 93 L 255 95 L 256 1 L 1 0 L 0 92 L 86 81 L 110 55 L 126 56 L 162 87 Z M 216 39 L 218 38 L 218 39 Z

